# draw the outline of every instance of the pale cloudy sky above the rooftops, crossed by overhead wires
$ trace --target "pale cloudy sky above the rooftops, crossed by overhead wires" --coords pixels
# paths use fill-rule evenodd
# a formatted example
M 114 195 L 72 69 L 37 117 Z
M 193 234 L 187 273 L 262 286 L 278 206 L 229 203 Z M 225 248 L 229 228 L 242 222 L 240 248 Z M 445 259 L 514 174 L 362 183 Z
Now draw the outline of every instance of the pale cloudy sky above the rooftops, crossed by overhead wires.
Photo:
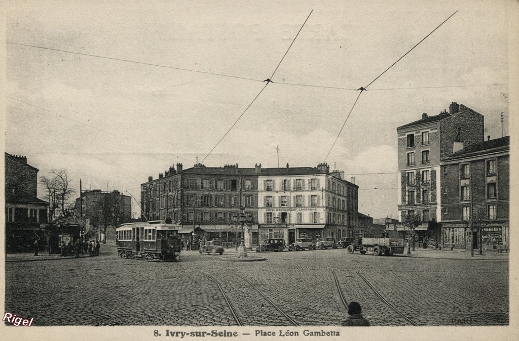
M 361 212 L 395 217 L 397 126 L 458 102 L 485 115 L 485 135 L 492 137 L 501 136 L 503 112 L 508 135 L 515 7 L 11 2 L 6 151 L 26 155 L 40 175 L 66 168 L 77 188 L 82 179 L 85 189 L 137 198 L 148 175 L 156 178 L 177 162 L 192 167 L 197 157 L 212 167 L 276 167 L 279 146 L 281 166 L 315 166 L 359 95 L 347 89 L 365 87 L 459 10 L 362 93 L 326 159 L 356 177 Z M 274 83 L 208 155 L 274 70 Z

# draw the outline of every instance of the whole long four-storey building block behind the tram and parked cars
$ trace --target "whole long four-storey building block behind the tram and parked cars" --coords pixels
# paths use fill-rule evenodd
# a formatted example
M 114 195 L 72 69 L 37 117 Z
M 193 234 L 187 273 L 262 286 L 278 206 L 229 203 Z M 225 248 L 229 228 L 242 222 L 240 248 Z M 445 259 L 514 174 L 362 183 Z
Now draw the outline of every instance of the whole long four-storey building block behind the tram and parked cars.
M 158 179 L 141 184 L 141 207 L 147 220 L 182 224 L 185 239 L 220 238 L 245 246 L 263 239 L 346 235 L 358 222 L 358 186 L 318 167 L 239 168 L 238 165 L 170 167 Z M 237 215 L 243 208 L 250 221 Z

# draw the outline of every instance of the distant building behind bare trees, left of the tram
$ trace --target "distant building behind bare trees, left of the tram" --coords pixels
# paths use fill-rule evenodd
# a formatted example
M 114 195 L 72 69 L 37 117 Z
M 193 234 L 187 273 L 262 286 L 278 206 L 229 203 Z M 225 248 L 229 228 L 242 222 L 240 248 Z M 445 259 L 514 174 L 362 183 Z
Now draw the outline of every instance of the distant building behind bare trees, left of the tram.
M 131 220 L 131 196 L 119 191 L 84 190 L 76 198 L 76 210 L 87 239 L 115 240 L 115 229 Z

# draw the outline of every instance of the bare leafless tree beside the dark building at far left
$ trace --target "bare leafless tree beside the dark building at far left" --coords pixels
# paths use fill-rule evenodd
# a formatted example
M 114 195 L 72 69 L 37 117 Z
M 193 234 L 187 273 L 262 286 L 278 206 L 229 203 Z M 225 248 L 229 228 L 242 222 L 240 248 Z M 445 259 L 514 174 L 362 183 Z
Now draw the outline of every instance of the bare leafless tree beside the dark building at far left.
M 49 220 L 57 216 L 56 211 L 60 217 L 67 217 L 70 213 L 70 199 L 74 194 L 69 172 L 66 169 L 52 169 L 49 174 L 49 177 L 39 179 L 49 197 Z

